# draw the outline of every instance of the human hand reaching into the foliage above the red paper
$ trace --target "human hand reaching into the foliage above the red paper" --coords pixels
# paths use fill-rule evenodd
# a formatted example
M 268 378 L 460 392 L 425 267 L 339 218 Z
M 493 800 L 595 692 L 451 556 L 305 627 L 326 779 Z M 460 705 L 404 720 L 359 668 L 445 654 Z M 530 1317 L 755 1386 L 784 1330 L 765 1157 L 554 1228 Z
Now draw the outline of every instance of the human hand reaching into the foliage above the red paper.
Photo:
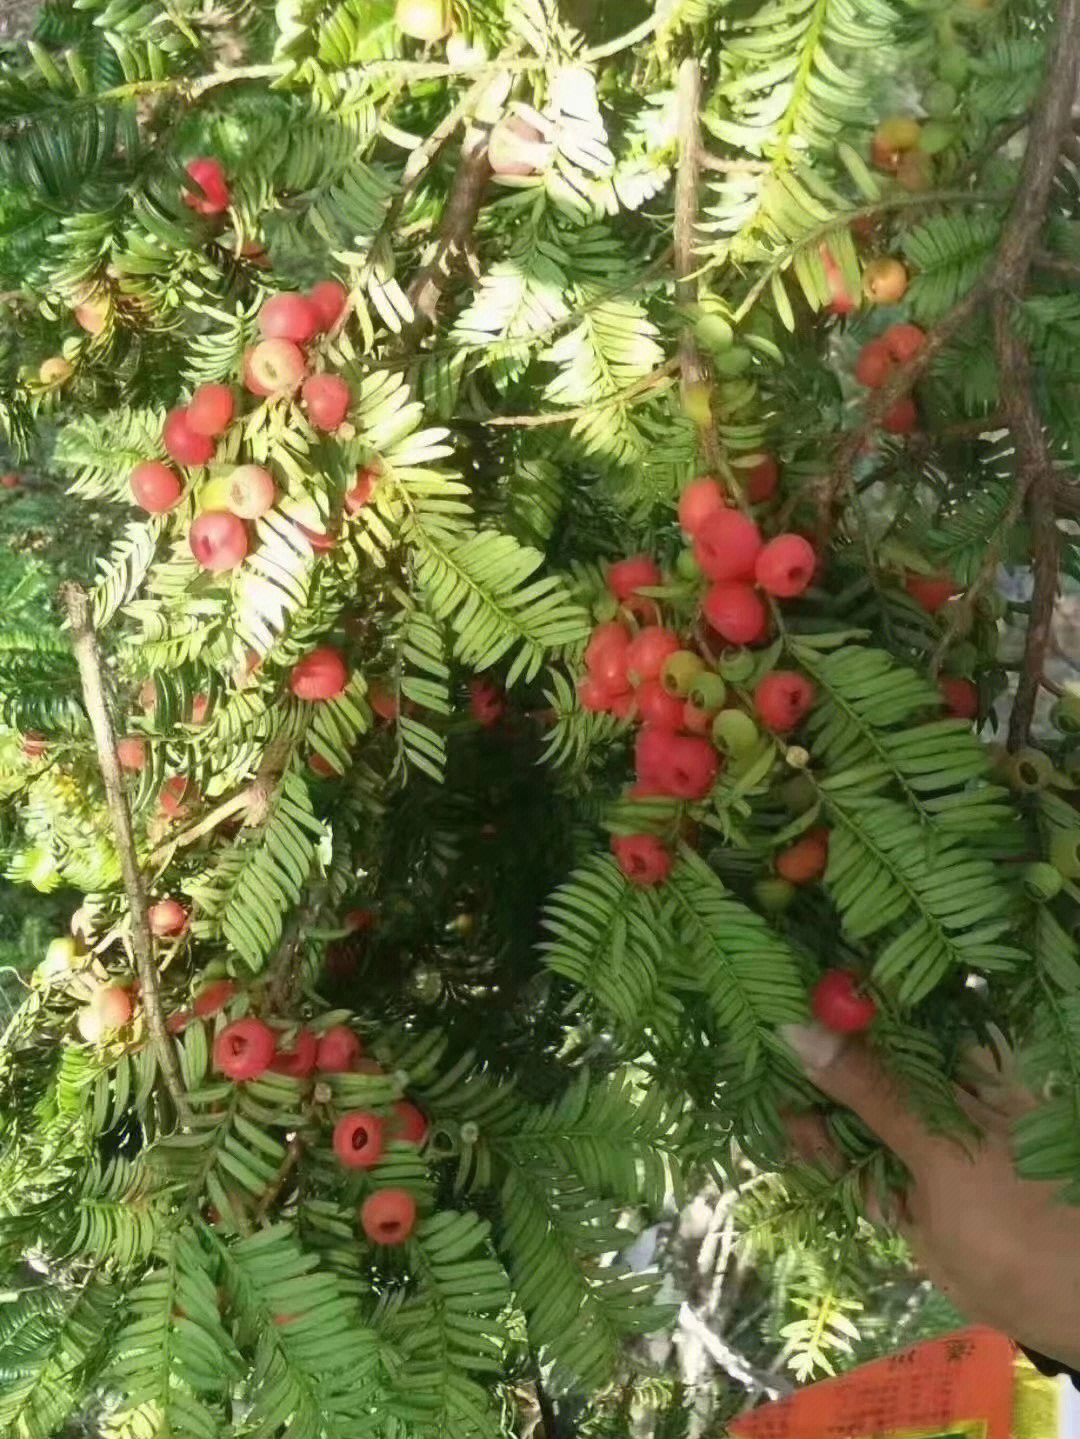
M 907 1166 L 889 1222 L 942 1294 L 972 1321 L 1080 1368 L 1080 1207 L 1058 1199 L 1058 1183 L 1021 1179 L 1010 1147 L 1012 1121 L 1038 1101 L 994 1055 L 974 1052 L 955 1094 L 982 1135 L 949 1138 L 926 1128 L 864 1040 L 815 1025 L 785 1026 L 781 1038 L 807 1078 Z M 792 1138 L 805 1158 L 830 1154 L 820 1117 L 795 1120 Z

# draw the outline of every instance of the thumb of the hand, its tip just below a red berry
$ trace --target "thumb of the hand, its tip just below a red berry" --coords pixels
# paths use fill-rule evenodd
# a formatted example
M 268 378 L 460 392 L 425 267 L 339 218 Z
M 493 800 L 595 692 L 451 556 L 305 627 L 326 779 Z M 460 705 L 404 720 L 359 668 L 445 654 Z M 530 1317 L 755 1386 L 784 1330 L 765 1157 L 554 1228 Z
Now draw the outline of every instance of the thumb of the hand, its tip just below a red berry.
M 935 1137 L 915 1114 L 903 1082 L 863 1040 L 846 1039 L 820 1025 L 784 1025 L 779 1038 L 811 1084 L 853 1109 L 910 1170 L 935 1147 Z

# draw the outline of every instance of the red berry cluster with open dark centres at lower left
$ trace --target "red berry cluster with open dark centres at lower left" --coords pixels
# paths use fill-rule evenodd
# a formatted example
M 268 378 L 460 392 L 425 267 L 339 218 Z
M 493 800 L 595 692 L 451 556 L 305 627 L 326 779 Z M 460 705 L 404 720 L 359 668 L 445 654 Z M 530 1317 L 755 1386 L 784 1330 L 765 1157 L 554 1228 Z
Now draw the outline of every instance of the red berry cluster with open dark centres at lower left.
M 217 1013 L 232 999 L 236 987 L 220 981 L 204 990 L 194 1012 Z M 316 1073 L 381 1075 L 383 1066 L 364 1055 L 358 1036 L 344 1025 L 335 1025 L 316 1035 L 299 1029 L 288 1045 L 280 1035 L 252 1016 L 233 1020 L 217 1035 L 213 1063 L 219 1073 L 236 1084 L 246 1084 L 263 1073 L 311 1079 Z M 334 1125 L 334 1153 L 344 1168 L 374 1170 L 383 1160 L 388 1143 L 421 1145 L 427 1138 L 427 1117 L 408 1099 L 398 1099 L 388 1115 L 367 1109 L 344 1114 Z M 400 1245 L 416 1225 L 416 1200 L 403 1189 L 383 1189 L 368 1196 L 360 1212 L 360 1222 L 372 1243 Z

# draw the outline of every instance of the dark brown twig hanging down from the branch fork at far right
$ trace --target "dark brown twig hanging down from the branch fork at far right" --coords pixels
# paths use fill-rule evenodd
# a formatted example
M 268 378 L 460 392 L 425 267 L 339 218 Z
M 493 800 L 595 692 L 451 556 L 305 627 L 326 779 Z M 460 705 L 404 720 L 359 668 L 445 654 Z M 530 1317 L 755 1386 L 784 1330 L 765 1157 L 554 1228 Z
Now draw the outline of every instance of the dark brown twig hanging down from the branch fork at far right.
M 1008 747 L 1018 750 L 1027 744 L 1043 682 L 1057 599 L 1061 537 L 1054 519 L 1054 463 L 1031 390 L 1031 357 L 1010 324 L 1005 296 L 994 304 L 994 348 L 1001 374 L 1008 377 L 1004 399 L 1017 446 L 1017 509 L 1027 502 L 1031 521 L 1034 586 L 1024 636 L 1024 661 L 1008 722 Z

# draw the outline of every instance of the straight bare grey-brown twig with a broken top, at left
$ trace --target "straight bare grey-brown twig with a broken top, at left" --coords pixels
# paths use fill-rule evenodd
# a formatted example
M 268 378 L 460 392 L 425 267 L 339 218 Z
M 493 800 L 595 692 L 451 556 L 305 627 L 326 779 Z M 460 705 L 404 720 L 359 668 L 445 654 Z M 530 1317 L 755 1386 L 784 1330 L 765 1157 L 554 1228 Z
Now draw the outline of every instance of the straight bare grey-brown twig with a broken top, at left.
M 165 1017 L 161 1012 L 158 971 L 154 963 L 154 941 L 150 934 L 150 920 L 147 915 L 147 892 L 135 858 L 135 836 L 131 829 L 128 800 L 124 794 L 124 781 L 116 755 L 116 735 L 105 698 L 105 676 L 101 666 L 98 636 L 93 629 L 91 599 L 81 584 L 68 584 L 62 590 L 62 600 L 72 629 L 72 649 L 79 665 L 82 694 L 98 748 L 98 767 L 105 784 L 105 800 L 112 822 L 119 868 L 124 876 L 124 889 L 131 907 L 131 944 L 135 951 L 139 984 L 142 986 L 142 1009 L 147 1016 L 147 1027 L 150 1029 L 150 1045 L 164 1075 L 165 1086 L 173 1097 L 177 1117 L 181 1124 L 188 1127 L 191 1124 L 191 1109 L 184 1092 L 184 1082 L 180 1076 L 180 1065 L 177 1063 L 173 1039 L 165 1029 Z

